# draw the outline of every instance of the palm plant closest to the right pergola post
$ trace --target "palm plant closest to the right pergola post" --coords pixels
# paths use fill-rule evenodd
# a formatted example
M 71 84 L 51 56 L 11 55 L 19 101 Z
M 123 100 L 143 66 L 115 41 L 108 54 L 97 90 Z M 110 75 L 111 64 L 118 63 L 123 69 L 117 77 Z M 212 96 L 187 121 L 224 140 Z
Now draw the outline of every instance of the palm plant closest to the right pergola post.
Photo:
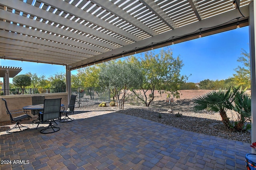
M 234 93 L 233 110 L 238 114 L 238 121 L 234 129 L 243 131 L 244 124 L 251 120 L 251 96 L 246 90 L 241 90 L 240 86 L 232 87 Z

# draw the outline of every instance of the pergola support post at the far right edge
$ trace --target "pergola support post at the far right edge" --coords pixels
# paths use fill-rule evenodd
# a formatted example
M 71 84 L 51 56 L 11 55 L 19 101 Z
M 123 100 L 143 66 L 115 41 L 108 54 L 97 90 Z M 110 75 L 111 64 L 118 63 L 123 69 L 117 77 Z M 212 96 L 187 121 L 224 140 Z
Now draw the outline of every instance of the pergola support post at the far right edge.
M 250 63 L 251 63 L 251 97 L 252 97 L 252 143 L 256 142 L 256 59 L 255 59 L 255 14 L 256 4 L 253 1 L 249 5 L 249 34 L 250 34 Z M 255 123 L 254 123 L 255 122 Z M 252 153 L 254 153 L 252 148 Z

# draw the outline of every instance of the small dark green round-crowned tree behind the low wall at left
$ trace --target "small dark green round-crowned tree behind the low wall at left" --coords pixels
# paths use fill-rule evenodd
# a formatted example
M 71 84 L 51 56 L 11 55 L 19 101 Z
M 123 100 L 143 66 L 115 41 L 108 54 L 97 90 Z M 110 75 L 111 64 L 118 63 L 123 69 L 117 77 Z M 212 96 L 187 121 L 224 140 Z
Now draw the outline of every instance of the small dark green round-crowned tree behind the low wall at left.
M 14 86 L 20 87 L 22 89 L 22 94 L 24 94 L 26 86 L 31 85 L 31 78 L 26 74 L 20 74 L 12 79 L 12 83 Z

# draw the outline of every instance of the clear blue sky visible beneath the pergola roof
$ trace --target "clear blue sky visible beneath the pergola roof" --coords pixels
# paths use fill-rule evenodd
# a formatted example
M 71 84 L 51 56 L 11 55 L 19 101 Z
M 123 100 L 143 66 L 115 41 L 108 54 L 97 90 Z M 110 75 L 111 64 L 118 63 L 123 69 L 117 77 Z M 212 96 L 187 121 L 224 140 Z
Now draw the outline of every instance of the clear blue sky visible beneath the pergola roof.
M 235 73 L 234 69 L 241 65 L 237 62 L 241 56 L 241 51 L 244 49 L 248 53 L 249 50 L 249 28 L 242 27 L 233 29 L 223 33 L 210 35 L 178 43 L 170 46 L 173 51 L 173 56 L 180 56 L 184 66 L 181 74 L 190 75 L 188 82 L 200 82 L 205 79 L 222 80 L 232 77 Z M 154 50 L 155 53 L 159 49 Z M 140 54 L 137 54 L 140 56 Z M 31 72 L 38 76 L 45 75 L 49 77 L 55 73 L 66 72 L 65 66 L 31 63 L 0 59 L 1 66 L 21 67 L 22 71 L 19 74 Z M 76 74 L 73 70 L 71 74 Z M 0 79 L 1 81 L 2 78 Z M 12 79 L 10 79 L 12 82 Z

